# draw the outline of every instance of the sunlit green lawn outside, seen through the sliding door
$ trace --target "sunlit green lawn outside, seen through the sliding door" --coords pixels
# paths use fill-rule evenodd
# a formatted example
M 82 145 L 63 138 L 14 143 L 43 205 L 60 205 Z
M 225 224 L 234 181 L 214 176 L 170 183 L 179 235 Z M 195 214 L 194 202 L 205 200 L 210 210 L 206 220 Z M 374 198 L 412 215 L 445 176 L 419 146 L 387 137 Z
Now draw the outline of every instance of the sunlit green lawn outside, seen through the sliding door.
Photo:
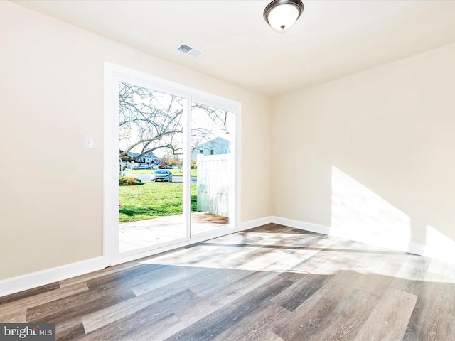
M 144 185 L 137 186 L 119 186 L 119 197 L 122 207 L 119 211 L 120 222 L 136 222 L 168 215 L 180 215 L 183 212 L 182 183 L 144 183 Z M 196 183 L 191 183 L 191 210 L 197 210 Z

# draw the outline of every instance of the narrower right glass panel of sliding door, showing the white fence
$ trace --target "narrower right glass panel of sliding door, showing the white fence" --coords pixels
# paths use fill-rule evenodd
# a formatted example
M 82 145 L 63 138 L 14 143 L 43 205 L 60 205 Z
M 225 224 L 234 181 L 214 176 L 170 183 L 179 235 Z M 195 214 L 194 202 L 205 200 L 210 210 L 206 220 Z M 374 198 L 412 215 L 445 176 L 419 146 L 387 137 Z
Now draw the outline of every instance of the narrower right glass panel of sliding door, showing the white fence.
M 232 227 L 234 114 L 191 104 L 191 236 Z

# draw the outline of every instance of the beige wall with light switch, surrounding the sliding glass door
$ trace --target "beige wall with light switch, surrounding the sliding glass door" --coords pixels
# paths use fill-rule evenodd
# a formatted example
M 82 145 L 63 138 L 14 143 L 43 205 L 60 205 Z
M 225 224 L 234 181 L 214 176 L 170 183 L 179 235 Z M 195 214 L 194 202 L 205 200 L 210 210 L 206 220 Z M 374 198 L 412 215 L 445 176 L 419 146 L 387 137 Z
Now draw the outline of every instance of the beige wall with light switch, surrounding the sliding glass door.
M 0 32 L 0 279 L 102 256 L 105 61 L 242 102 L 241 220 L 269 215 L 267 97 L 7 1 Z

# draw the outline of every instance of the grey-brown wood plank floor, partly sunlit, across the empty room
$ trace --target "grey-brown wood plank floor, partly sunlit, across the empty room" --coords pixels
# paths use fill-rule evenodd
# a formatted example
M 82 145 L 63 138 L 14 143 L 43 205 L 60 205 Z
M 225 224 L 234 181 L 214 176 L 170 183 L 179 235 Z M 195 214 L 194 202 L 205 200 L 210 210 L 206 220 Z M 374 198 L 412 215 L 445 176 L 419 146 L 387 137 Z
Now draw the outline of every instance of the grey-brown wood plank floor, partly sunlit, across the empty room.
M 0 298 L 57 340 L 455 340 L 455 266 L 269 224 Z

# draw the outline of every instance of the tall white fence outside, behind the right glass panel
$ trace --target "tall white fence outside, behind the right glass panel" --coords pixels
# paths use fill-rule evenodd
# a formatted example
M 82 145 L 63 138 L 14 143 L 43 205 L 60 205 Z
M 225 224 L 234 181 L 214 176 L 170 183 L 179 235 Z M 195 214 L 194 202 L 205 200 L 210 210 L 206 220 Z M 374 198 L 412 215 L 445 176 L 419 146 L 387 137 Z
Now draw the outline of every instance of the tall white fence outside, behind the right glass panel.
M 198 154 L 198 211 L 229 217 L 232 154 Z

